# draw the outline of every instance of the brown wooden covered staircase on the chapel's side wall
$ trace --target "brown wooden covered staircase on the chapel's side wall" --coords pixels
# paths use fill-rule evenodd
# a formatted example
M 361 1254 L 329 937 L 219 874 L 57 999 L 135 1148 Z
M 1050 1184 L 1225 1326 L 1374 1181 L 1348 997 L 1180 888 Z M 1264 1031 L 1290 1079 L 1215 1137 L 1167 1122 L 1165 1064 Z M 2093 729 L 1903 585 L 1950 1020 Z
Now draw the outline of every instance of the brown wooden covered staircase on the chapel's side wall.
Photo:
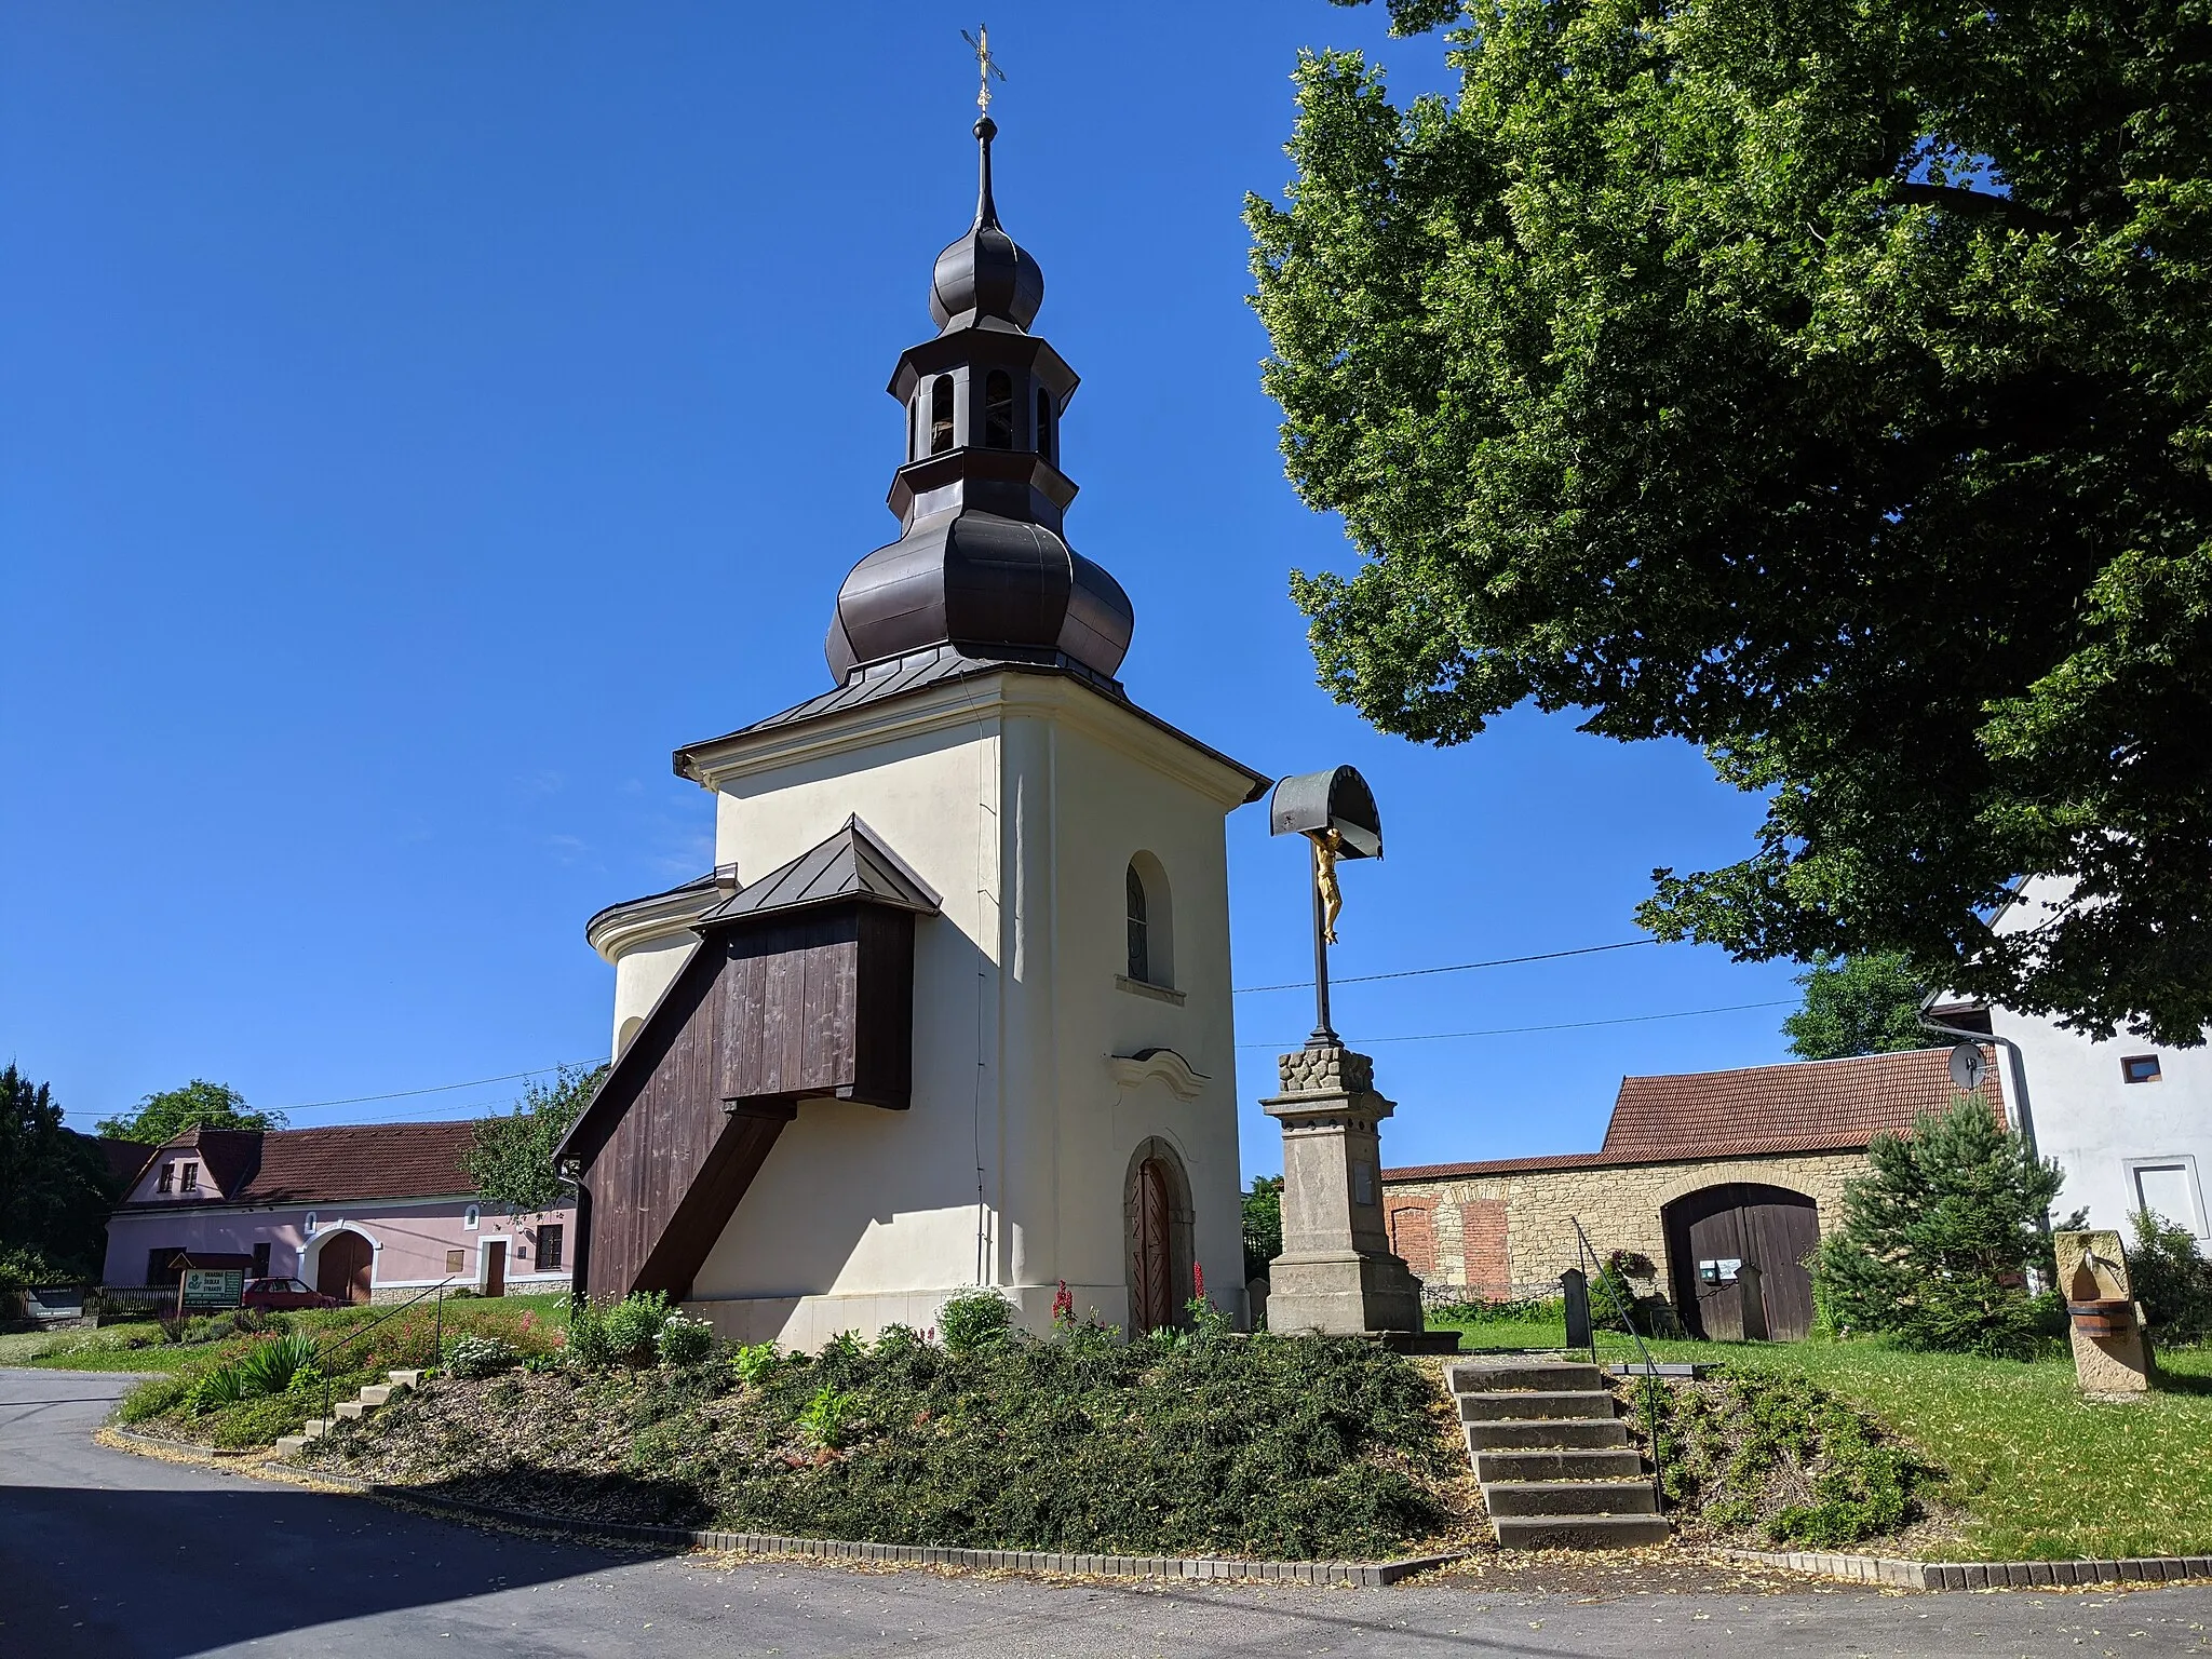
M 681 1298 L 803 1099 L 905 1110 L 914 925 L 938 896 L 858 818 L 699 916 L 699 949 L 557 1150 L 575 1287 Z

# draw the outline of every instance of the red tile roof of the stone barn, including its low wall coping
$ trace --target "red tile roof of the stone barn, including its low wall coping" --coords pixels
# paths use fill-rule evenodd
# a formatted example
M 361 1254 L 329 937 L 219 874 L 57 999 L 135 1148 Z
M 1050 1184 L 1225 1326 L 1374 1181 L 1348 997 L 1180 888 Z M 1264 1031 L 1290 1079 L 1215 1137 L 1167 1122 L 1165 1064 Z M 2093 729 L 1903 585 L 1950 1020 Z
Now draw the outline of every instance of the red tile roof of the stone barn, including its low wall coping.
M 1989 1046 L 1984 1044 L 1984 1053 Z M 1993 1057 L 1993 1055 L 1991 1055 Z M 1606 1144 L 1597 1152 L 1422 1164 L 1383 1170 L 1385 1181 L 1571 1170 L 1590 1164 L 1681 1164 L 1770 1152 L 1856 1152 L 1876 1135 L 1902 1135 L 1920 1113 L 1951 1104 L 1951 1051 L 1807 1060 L 1741 1071 L 1621 1077 Z M 1995 1068 L 1975 1091 L 2004 1119 Z

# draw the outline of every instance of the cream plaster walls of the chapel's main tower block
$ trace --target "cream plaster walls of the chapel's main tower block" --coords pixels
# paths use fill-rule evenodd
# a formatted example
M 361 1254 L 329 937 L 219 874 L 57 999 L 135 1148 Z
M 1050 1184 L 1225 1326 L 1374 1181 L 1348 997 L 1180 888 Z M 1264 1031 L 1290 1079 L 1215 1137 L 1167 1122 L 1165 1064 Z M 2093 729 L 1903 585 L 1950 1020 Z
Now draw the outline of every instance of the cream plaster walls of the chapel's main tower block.
M 1044 1327 L 1066 1279 L 1079 1310 L 1121 1323 L 1121 1186 L 1148 1135 L 1179 1148 L 1199 1261 L 1234 1307 L 1223 814 L 1245 781 L 1055 677 L 856 717 L 717 757 L 714 858 L 759 876 L 858 814 L 938 889 L 942 914 L 916 927 L 914 1104 L 801 1104 L 699 1270 L 697 1310 L 732 1336 L 812 1347 L 929 1325 L 975 1283 Z M 1115 987 L 1137 849 L 1172 883 L 1181 1006 Z M 1117 1088 L 1106 1055 L 1146 1046 L 1208 1073 L 1201 1099 Z

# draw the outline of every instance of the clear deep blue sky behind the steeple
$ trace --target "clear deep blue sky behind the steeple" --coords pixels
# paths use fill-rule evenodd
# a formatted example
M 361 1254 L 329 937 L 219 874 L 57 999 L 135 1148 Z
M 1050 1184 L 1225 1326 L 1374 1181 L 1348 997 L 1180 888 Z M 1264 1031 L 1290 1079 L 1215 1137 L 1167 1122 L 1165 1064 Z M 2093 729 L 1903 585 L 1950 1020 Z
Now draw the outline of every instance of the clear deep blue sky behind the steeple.
M 1316 686 L 1245 190 L 1301 44 L 1398 88 L 1380 7 L 1031 7 L 1000 208 L 1084 376 L 1071 540 L 1130 692 L 1263 772 L 1352 761 L 1389 858 L 1340 975 L 1635 938 L 1655 865 L 1747 845 L 1681 745 L 1513 714 L 1460 750 Z M 883 383 L 973 206 L 940 4 L 0 11 L 0 1055 L 91 1124 L 215 1077 L 294 1124 L 442 1117 L 599 1053 L 584 918 L 697 874 L 668 752 L 825 684 L 894 533 Z M 639 672 L 639 668 L 644 672 Z M 1298 849 L 1230 821 L 1241 984 L 1305 973 Z M 1389 1161 L 1595 1146 L 1624 1073 L 1783 1057 L 1790 969 L 1637 947 L 1338 993 Z M 1615 1022 L 1615 1024 L 1588 1024 Z M 1310 1002 L 1239 998 L 1239 1091 Z M 1579 1026 L 1427 1040 L 1429 1033 Z M 1422 1040 L 1400 1040 L 1422 1037 Z M 1245 1168 L 1279 1168 L 1245 1110 Z

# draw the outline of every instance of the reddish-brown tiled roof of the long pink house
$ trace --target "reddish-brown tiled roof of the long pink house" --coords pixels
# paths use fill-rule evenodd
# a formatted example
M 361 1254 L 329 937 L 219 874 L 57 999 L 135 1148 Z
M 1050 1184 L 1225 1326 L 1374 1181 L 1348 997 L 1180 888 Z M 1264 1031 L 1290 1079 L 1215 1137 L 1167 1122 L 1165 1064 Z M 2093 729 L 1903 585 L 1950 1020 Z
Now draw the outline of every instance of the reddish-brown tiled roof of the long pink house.
M 179 1135 L 161 1150 L 197 1146 L 221 1203 L 442 1199 L 476 1190 L 476 1181 L 460 1168 L 460 1155 L 473 1133 L 467 1119 L 343 1128 L 221 1128 Z M 175 1210 L 177 1203 L 161 1199 L 133 1208 Z

